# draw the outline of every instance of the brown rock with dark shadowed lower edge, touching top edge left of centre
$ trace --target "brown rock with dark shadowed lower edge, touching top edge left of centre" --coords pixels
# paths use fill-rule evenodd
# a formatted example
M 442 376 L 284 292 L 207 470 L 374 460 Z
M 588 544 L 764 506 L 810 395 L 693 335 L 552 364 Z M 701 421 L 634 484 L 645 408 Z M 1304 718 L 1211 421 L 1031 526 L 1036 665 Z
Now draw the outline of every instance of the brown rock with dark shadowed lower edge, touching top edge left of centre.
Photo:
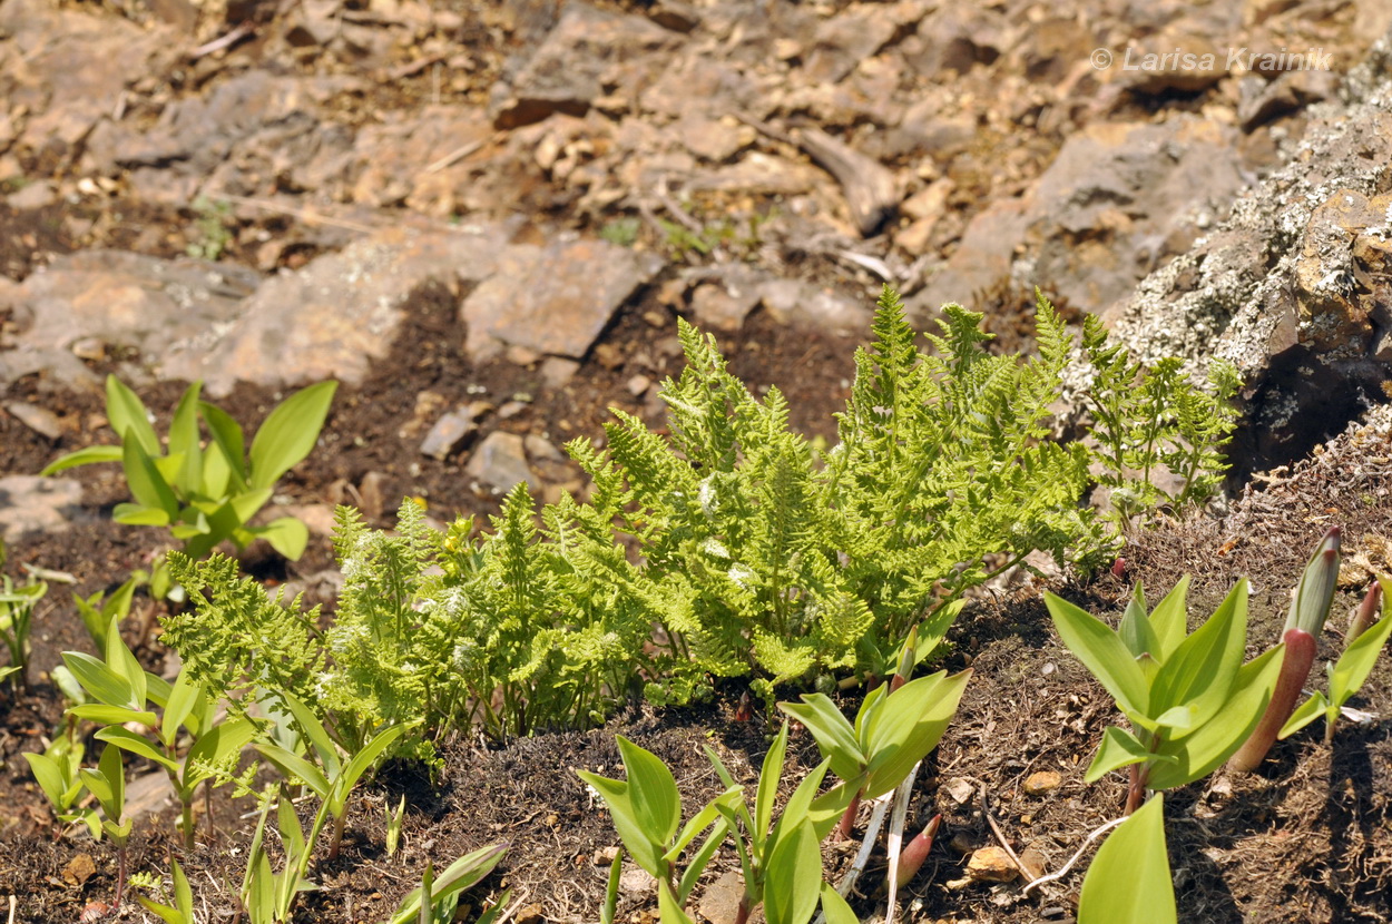
M 643 17 L 569 0 L 511 85 L 493 88 L 493 122 L 518 128 L 553 113 L 583 116 L 606 93 L 604 78 L 612 67 L 668 47 L 675 38 Z

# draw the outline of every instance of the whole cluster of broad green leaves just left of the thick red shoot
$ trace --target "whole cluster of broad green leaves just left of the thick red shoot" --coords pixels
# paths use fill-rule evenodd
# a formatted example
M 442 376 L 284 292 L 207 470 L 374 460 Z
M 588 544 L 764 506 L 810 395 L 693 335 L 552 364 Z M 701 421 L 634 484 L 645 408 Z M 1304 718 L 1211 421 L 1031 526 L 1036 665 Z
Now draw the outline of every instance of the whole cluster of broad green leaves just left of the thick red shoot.
M 1147 789 L 1171 789 L 1207 776 L 1261 719 L 1281 646 L 1242 662 L 1247 643 L 1247 582 L 1240 580 L 1193 635 L 1185 635 L 1185 578 L 1154 612 L 1137 584 L 1114 632 L 1076 605 L 1045 594 L 1063 644 L 1116 700 L 1132 731 L 1108 728 L 1084 779 L 1130 768 L 1126 813 Z

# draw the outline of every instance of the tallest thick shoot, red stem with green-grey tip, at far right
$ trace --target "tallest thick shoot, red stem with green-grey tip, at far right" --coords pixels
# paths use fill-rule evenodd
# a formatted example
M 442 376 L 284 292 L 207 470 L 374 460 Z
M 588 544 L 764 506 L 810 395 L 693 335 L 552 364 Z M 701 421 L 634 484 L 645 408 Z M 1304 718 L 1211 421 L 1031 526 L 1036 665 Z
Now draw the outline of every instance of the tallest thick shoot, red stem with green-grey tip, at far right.
M 1315 650 L 1325 619 L 1329 618 L 1329 604 L 1334 603 L 1334 589 L 1339 580 L 1339 527 L 1334 526 L 1324 534 L 1314 557 L 1306 565 L 1295 600 L 1290 601 L 1290 615 L 1281 640 L 1286 650 L 1281 658 L 1281 674 L 1276 687 L 1267 703 L 1267 711 L 1251 736 L 1232 756 L 1229 767 L 1237 772 L 1251 772 L 1267 757 L 1276 742 L 1286 719 L 1296 711 L 1300 692 L 1314 668 Z

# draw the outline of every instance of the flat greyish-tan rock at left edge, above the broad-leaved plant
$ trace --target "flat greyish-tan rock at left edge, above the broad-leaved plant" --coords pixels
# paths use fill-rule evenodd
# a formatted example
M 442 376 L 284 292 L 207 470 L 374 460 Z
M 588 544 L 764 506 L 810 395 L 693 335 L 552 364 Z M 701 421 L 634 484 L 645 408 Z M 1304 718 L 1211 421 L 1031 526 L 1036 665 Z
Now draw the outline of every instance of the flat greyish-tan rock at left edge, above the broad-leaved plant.
M 159 358 L 230 323 L 259 284 L 252 270 L 203 260 L 118 250 L 56 257 L 7 298 L 19 333 L 0 353 L 0 379 L 47 370 L 58 383 L 93 385 L 96 376 L 74 356 L 78 344 L 95 338 Z

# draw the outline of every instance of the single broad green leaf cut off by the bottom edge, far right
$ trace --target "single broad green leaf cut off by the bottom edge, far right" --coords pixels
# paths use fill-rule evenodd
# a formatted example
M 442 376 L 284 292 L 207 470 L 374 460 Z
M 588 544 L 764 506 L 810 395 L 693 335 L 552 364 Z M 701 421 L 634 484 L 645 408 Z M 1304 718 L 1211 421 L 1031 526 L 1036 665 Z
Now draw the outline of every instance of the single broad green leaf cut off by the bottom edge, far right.
M 1178 924 L 1165 852 L 1164 797 L 1136 810 L 1097 852 L 1083 879 L 1077 924 Z

